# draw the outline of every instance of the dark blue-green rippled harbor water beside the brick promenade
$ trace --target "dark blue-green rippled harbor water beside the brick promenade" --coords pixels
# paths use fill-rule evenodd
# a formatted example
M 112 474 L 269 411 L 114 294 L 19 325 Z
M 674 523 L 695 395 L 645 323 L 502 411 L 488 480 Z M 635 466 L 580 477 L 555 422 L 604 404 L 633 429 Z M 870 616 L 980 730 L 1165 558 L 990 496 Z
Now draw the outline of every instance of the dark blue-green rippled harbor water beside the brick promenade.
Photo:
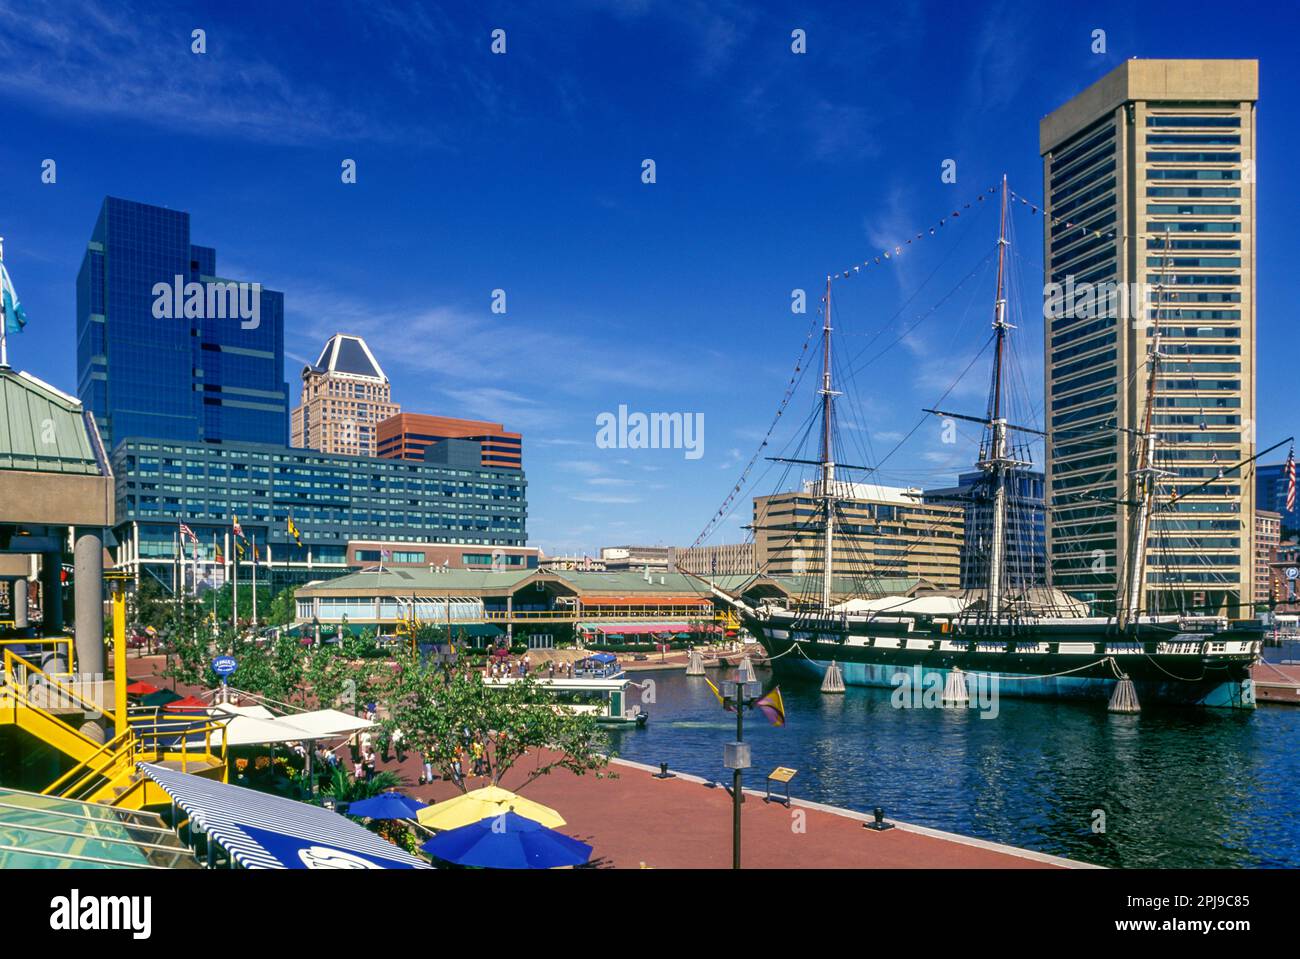
M 708 672 L 716 682 L 734 671 Z M 629 678 L 654 682 L 650 722 L 615 730 L 614 752 L 729 782 L 723 745 L 736 719 L 705 680 L 680 669 Z M 772 673 L 758 678 L 770 686 Z M 1104 703 L 1001 698 L 993 715 L 789 680 L 781 695 L 783 728 L 746 712 L 748 787 L 793 767 L 797 798 L 880 806 L 900 821 L 1106 867 L 1300 867 L 1297 707 L 1115 715 Z

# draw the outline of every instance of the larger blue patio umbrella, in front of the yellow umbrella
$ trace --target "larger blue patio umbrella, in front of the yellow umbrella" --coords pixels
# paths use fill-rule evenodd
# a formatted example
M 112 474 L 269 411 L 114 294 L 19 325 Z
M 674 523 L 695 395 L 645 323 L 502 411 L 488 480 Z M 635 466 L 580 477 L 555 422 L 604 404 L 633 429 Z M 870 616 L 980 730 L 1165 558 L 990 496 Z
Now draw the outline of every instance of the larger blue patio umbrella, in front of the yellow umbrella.
M 488 869 L 552 869 L 581 865 L 592 847 L 516 812 L 489 816 L 459 829 L 448 829 L 420 849 L 456 865 Z

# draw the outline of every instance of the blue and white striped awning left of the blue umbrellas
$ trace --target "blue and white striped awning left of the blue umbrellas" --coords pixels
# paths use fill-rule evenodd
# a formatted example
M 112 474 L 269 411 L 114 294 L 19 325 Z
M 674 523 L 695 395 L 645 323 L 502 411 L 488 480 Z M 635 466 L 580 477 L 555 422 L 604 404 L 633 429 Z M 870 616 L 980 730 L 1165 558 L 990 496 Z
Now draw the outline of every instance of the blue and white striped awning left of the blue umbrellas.
M 428 869 L 337 812 L 140 763 L 196 828 L 248 869 Z

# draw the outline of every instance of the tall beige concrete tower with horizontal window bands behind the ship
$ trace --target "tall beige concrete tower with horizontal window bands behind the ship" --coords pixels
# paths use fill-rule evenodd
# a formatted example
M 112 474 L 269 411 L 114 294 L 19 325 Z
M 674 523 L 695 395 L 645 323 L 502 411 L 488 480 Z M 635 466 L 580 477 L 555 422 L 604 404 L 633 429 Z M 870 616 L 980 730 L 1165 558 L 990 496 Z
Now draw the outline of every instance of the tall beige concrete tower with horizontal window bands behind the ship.
M 1108 612 L 1160 324 L 1143 608 L 1251 615 L 1257 96 L 1254 60 L 1130 60 L 1040 125 L 1048 550 Z

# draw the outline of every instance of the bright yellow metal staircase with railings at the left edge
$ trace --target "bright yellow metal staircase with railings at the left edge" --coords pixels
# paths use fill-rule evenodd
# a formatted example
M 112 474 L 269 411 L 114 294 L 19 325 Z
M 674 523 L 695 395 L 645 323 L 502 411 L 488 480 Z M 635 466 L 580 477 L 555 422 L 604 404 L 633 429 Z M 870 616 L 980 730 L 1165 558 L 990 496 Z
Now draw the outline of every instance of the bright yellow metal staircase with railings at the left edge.
M 125 668 L 120 671 L 120 682 L 126 681 L 125 673 Z M 58 704 L 55 706 L 55 702 Z M 121 730 L 104 743 L 69 721 L 79 722 L 86 716 L 100 715 Z M 157 763 L 222 782 L 228 776 L 221 722 L 196 721 L 182 715 L 148 715 L 118 722 L 116 712 L 109 712 L 84 697 L 70 681 L 44 672 L 12 648 L 4 650 L 0 673 L 0 725 L 8 724 L 74 760 L 72 769 L 42 790 L 43 795 L 138 810 L 170 802 L 139 773 L 138 763 Z M 216 750 L 213 733 L 220 739 Z

